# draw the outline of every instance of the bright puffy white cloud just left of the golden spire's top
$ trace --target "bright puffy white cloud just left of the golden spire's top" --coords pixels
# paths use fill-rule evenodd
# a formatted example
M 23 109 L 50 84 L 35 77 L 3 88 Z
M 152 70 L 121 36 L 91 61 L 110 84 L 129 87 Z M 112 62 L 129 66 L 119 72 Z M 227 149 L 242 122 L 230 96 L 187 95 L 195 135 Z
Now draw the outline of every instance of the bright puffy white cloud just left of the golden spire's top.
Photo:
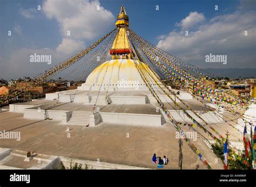
M 99 37 L 114 26 L 113 14 L 100 6 L 100 3 L 89 0 L 46 0 L 43 11 L 48 18 L 56 18 L 63 37 L 76 40 L 90 40 Z

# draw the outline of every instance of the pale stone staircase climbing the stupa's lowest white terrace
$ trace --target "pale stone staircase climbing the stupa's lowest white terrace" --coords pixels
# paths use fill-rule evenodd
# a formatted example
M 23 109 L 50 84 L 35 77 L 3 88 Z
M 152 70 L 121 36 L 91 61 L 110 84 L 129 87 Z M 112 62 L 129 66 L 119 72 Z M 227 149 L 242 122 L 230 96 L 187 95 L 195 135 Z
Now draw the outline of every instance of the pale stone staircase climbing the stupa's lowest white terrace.
M 70 120 L 68 121 L 68 124 L 86 126 L 87 124 L 89 124 L 91 115 L 92 112 L 73 111 Z

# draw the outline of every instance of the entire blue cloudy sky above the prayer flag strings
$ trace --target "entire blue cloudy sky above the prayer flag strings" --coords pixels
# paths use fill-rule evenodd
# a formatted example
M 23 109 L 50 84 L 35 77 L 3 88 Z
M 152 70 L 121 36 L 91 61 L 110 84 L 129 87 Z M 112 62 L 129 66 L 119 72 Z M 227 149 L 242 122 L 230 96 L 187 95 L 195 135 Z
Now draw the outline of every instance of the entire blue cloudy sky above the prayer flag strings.
M 33 77 L 89 46 L 114 27 L 124 5 L 130 27 L 154 45 L 201 68 L 255 68 L 255 1 L 0 1 L 0 78 Z M 37 10 L 41 5 L 41 10 Z M 100 5 L 100 11 L 96 10 Z M 156 10 L 159 5 L 159 10 Z M 218 10 L 214 6 L 218 5 Z M 67 37 L 65 32 L 71 31 Z M 184 32 L 188 31 L 189 36 Z M 248 36 L 244 37 L 244 31 Z M 12 36 L 8 36 L 8 31 Z M 33 53 L 53 63 L 31 64 Z M 206 54 L 227 64 L 206 64 Z

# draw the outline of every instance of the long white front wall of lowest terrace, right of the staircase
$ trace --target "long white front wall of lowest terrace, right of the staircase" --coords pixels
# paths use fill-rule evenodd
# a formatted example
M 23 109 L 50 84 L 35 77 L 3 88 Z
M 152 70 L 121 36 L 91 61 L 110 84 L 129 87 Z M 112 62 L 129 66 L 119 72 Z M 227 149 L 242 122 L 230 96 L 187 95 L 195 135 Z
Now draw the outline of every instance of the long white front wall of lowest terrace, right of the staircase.
M 100 112 L 100 116 L 106 123 L 161 126 L 161 115 Z

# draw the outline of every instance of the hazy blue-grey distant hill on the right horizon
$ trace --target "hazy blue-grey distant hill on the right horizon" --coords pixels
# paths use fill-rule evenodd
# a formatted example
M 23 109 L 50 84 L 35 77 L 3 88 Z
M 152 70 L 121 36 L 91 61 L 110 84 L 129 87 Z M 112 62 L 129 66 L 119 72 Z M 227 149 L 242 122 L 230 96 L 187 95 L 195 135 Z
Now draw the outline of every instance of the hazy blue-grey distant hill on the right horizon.
M 256 78 L 256 69 L 253 68 L 227 68 L 227 69 L 215 69 L 215 68 L 206 68 L 204 69 L 207 72 L 213 73 L 219 77 L 228 77 L 228 78 Z

